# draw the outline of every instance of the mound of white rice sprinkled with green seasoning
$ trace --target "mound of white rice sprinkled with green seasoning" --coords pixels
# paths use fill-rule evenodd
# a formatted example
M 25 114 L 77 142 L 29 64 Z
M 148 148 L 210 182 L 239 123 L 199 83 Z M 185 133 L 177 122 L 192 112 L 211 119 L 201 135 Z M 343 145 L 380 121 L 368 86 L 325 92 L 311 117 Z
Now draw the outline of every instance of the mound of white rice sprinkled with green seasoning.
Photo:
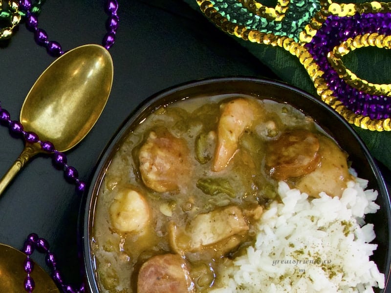
M 349 182 L 341 198 L 318 199 L 279 183 L 282 203 L 273 202 L 259 221 L 254 246 L 224 272 L 224 287 L 212 293 L 373 292 L 384 274 L 369 260 L 376 249 L 372 224 L 365 224 L 376 190 L 367 181 Z

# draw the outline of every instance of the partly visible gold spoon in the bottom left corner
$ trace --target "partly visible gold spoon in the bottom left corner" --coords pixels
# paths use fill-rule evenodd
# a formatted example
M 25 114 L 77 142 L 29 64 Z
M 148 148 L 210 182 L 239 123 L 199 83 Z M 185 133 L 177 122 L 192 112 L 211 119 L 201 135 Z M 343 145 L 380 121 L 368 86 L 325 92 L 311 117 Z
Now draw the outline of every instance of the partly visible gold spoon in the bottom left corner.
M 0 292 L 23 292 L 26 272 L 23 263 L 26 255 L 15 248 L 0 244 Z M 34 279 L 34 292 L 60 293 L 50 276 L 36 263 L 30 276 Z

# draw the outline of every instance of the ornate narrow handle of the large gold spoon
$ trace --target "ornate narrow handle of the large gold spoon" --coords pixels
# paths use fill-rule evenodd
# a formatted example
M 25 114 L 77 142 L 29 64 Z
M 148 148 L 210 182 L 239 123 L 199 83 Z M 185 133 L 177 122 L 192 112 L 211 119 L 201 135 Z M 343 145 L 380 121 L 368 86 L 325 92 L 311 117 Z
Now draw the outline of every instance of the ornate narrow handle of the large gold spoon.
M 22 167 L 36 154 L 42 152 L 42 148 L 39 143 L 29 143 L 26 142 L 22 153 L 19 155 L 18 159 L 14 164 L 8 169 L 7 173 L 0 180 L 0 195 L 16 174 L 22 169 Z

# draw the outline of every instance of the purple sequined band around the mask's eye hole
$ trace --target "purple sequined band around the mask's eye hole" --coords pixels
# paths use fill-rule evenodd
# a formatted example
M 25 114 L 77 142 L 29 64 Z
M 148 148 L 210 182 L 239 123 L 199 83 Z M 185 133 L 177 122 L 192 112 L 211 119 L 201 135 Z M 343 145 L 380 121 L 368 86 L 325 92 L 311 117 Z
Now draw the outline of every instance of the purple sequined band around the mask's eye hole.
M 348 38 L 367 33 L 391 34 L 390 13 L 355 14 L 351 17 L 329 16 L 318 29 L 312 41 L 304 46 L 313 56 L 320 69 L 324 72 L 323 78 L 326 84 L 339 101 L 354 113 L 369 116 L 370 119 L 385 119 L 391 116 L 387 97 L 359 93 L 346 81 L 339 77 L 338 73 L 327 60 L 328 52 Z

